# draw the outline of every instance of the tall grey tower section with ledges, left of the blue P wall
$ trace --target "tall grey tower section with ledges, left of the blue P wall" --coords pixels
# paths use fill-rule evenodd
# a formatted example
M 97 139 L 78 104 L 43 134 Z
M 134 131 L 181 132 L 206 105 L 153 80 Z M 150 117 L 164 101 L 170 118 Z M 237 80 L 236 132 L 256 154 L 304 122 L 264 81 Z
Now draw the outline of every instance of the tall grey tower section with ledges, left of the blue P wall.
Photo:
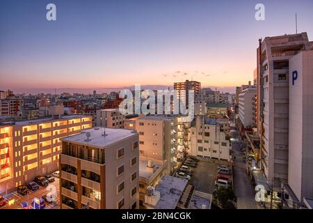
M 310 49 L 307 33 L 266 37 L 257 50 L 257 128 L 262 169 L 275 186 L 287 183 L 289 162 L 289 60 Z M 298 108 L 300 109 L 300 108 Z

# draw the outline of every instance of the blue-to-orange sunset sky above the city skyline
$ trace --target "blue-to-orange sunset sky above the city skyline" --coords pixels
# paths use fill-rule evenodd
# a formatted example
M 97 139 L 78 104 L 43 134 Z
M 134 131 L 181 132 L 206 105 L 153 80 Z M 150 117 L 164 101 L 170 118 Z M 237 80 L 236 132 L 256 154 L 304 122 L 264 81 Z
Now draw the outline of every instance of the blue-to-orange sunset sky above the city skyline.
M 56 21 L 46 6 L 56 5 Z M 264 3 L 265 20 L 255 20 Z M 1 0 L 0 90 L 88 91 L 253 79 L 258 39 L 307 32 L 313 1 Z

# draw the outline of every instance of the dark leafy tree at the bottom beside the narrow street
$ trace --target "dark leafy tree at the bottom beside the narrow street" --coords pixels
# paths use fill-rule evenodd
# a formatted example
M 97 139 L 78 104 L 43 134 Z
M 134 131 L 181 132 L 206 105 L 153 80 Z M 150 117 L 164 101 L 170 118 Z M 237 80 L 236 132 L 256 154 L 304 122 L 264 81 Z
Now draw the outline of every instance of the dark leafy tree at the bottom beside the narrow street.
M 214 192 L 213 206 L 220 209 L 236 209 L 236 196 L 230 187 L 218 187 Z

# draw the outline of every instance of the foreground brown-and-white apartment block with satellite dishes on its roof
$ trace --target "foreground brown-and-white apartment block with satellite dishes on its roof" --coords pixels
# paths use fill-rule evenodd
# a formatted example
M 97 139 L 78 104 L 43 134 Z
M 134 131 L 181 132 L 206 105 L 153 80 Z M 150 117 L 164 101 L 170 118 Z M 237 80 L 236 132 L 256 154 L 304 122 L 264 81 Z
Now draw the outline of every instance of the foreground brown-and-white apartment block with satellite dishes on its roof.
M 138 208 L 138 133 L 93 128 L 61 139 L 62 209 Z

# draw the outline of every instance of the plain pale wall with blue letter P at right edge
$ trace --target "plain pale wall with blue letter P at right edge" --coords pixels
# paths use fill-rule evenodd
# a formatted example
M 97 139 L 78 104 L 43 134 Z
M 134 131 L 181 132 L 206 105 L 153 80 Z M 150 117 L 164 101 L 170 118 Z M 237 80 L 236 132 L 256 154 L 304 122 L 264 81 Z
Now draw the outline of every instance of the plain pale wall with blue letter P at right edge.
M 288 185 L 301 203 L 313 199 L 313 50 L 289 59 Z

